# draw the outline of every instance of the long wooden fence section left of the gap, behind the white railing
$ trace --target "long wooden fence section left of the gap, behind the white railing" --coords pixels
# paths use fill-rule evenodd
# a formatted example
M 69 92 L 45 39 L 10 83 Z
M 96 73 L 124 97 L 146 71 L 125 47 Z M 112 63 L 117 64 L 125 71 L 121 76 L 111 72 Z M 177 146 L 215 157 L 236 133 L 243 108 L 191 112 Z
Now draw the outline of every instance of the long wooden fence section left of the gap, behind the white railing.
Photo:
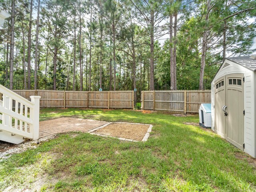
M 41 96 L 40 107 L 134 108 L 133 91 L 13 91 L 28 100 Z

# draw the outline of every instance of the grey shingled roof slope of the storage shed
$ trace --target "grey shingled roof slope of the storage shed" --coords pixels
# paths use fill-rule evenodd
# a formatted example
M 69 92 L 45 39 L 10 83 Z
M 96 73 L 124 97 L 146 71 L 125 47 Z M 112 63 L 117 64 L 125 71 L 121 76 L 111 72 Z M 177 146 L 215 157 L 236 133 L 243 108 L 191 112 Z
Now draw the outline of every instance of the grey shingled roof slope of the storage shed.
M 243 57 L 227 57 L 227 60 L 230 60 L 236 64 L 244 66 L 252 71 L 256 71 L 256 59 L 250 58 L 250 56 Z

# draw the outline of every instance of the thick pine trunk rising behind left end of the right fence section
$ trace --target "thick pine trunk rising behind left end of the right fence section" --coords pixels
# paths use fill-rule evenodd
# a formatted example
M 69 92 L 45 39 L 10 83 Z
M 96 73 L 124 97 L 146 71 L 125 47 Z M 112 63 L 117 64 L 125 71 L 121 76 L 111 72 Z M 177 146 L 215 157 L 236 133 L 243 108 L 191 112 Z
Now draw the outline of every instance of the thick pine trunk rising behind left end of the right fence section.
M 151 11 L 150 29 L 150 90 L 155 90 L 154 85 L 154 11 Z

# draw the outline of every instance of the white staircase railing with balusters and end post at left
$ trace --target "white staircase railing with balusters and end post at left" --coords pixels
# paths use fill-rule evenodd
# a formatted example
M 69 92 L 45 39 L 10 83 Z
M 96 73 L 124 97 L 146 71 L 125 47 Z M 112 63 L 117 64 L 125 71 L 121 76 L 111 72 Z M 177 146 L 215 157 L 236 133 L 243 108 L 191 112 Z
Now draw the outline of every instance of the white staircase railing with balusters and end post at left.
M 0 140 L 19 144 L 25 138 L 38 140 L 40 96 L 31 102 L 0 85 Z

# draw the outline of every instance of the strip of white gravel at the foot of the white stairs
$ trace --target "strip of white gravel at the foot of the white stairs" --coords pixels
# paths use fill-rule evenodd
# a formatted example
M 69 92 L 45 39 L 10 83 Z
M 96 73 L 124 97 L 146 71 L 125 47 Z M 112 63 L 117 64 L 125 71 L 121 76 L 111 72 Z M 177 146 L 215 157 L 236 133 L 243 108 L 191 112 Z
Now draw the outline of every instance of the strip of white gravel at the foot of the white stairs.
M 12 147 L 10 148 L 9 150 L 6 150 L 4 152 L 0 152 L 0 162 L 4 159 L 7 159 L 9 158 L 12 154 L 16 154 L 16 153 L 21 153 L 21 152 L 24 152 L 26 151 L 27 149 L 30 149 L 30 148 L 37 148 L 38 147 L 38 142 L 42 142 L 42 141 L 48 141 L 52 138 L 54 138 L 55 135 L 51 135 L 51 136 L 46 136 L 44 138 L 40 138 L 36 141 L 29 141 L 29 142 L 25 142 L 25 143 L 22 143 L 22 144 L 18 144 L 16 145 L 15 147 Z

